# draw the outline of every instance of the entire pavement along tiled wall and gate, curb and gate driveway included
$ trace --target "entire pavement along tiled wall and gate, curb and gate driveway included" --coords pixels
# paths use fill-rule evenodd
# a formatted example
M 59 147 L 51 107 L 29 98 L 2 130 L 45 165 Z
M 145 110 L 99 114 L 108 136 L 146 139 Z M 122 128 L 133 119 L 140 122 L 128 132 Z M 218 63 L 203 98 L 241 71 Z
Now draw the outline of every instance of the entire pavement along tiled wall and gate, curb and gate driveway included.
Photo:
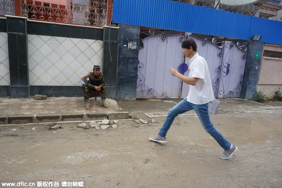
M 240 98 L 218 100 L 221 102 L 219 110 L 270 107 Z M 83 97 L 47 97 L 44 100 L 0 98 L 0 124 L 128 119 L 128 114 L 134 112 L 168 112 L 179 101 L 148 99 L 117 102 L 106 99 L 108 108 L 104 108 L 97 97 L 97 100 L 90 99 L 90 110 L 86 110 Z

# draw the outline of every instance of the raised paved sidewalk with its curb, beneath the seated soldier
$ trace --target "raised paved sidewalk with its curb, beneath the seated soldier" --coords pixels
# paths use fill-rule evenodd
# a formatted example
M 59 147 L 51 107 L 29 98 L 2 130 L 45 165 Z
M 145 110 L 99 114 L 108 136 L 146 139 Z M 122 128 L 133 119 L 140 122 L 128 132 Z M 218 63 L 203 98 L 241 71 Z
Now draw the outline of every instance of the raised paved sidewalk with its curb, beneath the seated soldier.
M 100 98 L 90 99 L 85 109 L 83 97 L 47 97 L 44 100 L 0 98 L 0 124 L 25 124 L 65 121 L 127 119 L 116 101 L 106 99 L 108 108 L 101 106 Z

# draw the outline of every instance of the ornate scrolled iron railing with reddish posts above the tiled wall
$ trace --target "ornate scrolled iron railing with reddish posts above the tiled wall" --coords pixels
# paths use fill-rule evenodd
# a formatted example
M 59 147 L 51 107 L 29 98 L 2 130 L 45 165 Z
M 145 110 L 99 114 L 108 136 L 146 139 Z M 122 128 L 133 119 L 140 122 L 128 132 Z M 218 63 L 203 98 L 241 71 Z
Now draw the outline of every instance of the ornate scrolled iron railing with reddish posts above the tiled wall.
M 112 0 L 0 0 L 4 15 L 102 27 L 111 20 Z

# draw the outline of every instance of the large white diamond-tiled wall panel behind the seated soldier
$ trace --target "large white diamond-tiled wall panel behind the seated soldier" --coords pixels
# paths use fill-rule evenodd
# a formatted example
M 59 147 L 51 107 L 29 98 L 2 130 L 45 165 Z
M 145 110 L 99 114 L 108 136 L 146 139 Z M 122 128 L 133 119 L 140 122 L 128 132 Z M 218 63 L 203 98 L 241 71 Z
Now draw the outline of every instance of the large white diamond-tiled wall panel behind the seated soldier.
M 28 53 L 30 85 L 80 86 L 93 65 L 102 69 L 103 41 L 28 35 Z

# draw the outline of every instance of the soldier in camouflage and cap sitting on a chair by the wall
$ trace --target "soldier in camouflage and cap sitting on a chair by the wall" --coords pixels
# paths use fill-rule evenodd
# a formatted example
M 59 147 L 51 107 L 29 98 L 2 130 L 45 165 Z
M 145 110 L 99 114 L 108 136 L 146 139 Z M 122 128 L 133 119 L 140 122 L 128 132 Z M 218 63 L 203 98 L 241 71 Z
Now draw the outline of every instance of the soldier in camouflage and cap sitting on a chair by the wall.
M 106 100 L 106 87 L 104 84 L 104 76 L 102 72 L 100 72 L 100 66 L 94 65 L 93 72 L 89 72 L 86 79 L 86 87 L 84 88 L 84 98 L 86 101 L 86 109 L 90 109 L 89 103 L 89 91 L 101 91 L 102 97 L 102 106 L 107 108 L 107 104 L 105 103 Z

